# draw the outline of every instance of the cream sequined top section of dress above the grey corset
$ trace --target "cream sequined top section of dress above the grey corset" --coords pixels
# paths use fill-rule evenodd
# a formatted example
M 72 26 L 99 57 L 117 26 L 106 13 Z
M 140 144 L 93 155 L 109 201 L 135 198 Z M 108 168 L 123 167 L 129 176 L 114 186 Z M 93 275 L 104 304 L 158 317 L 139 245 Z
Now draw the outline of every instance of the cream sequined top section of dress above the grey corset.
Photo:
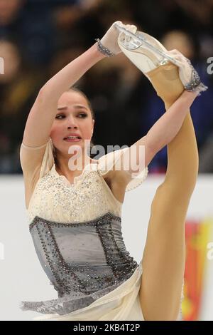
M 84 222 L 106 212 L 121 216 L 116 200 L 97 164 L 88 165 L 71 184 L 53 168 L 38 180 L 27 210 L 28 224 L 35 216 L 55 222 Z

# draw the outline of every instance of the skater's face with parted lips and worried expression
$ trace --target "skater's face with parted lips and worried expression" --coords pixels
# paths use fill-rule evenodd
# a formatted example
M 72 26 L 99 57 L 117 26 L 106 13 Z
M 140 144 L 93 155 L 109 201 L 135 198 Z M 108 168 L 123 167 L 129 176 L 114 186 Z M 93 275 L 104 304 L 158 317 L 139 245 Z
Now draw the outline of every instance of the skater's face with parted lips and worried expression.
M 50 131 L 53 145 L 65 155 L 71 145 L 79 145 L 84 152 L 85 140 L 92 138 L 94 120 L 87 100 L 78 92 L 65 92 L 58 100 L 58 110 Z M 75 133 L 80 139 L 67 139 Z

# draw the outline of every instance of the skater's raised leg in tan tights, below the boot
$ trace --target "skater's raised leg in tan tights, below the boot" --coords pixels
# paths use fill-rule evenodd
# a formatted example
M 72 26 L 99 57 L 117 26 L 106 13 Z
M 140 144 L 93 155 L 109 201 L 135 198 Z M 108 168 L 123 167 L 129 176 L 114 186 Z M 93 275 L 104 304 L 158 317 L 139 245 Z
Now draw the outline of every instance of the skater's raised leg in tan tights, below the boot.
M 178 68 L 150 73 L 153 87 L 168 108 L 183 91 Z M 175 320 L 185 271 L 185 217 L 198 173 L 198 153 L 190 110 L 168 145 L 168 168 L 151 204 L 143 252 L 140 300 L 145 320 Z

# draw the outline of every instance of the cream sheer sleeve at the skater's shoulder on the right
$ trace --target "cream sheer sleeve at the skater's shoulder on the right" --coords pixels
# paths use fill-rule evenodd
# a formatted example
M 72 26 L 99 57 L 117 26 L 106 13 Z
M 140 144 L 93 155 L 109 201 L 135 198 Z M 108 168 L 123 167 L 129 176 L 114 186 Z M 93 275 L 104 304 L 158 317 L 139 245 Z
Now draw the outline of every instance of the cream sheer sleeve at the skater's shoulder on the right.
M 99 158 L 99 171 L 102 175 L 105 175 L 109 170 L 112 170 L 113 167 L 115 168 L 120 167 L 121 165 L 121 155 L 124 155 L 125 150 L 129 150 L 129 147 L 124 149 L 119 149 L 112 151 L 111 153 L 107 153 L 107 155 L 103 155 L 101 158 Z M 128 170 L 126 170 L 126 173 L 131 175 Z M 137 175 L 131 175 L 131 180 L 126 186 L 126 192 L 133 190 L 134 188 L 141 185 L 141 183 L 146 179 L 148 175 L 148 168 L 144 168 L 141 172 L 139 172 Z

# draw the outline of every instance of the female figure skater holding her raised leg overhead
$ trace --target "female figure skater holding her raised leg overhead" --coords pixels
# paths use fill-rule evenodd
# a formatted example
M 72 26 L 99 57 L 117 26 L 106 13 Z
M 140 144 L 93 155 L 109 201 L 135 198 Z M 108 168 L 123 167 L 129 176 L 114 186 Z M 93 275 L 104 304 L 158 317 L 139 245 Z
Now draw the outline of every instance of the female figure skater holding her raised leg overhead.
M 136 26 L 116 24 L 136 33 Z M 150 51 L 128 53 L 125 46 L 130 37 L 120 33 L 116 24 L 45 83 L 28 115 L 20 157 L 29 229 L 40 263 L 58 292 L 58 299 L 22 301 L 23 310 L 48 314 L 34 319 L 179 317 L 185 215 L 198 170 L 189 108 L 205 88 L 199 81 L 189 83 L 195 71 L 178 51 L 167 55 L 179 67 L 153 61 L 151 71 L 145 71 L 143 56 L 152 60 Z M 150 36 L 150 41 L 156 40 Z M 130 148 L 92 160 L 87 149 L 94 113 L 87 97 L 70 86 L 104 57 L 120 53 L 120 47 L 151 80 L 166 113 Z M 123 241 L 121 206 L 125 192 L 144 180 L 148 163 L 165 145 L 168 169 L 151 205 L 146 247 L 137 264 Z M 70 158 L 76 169 L 70 168 Z

